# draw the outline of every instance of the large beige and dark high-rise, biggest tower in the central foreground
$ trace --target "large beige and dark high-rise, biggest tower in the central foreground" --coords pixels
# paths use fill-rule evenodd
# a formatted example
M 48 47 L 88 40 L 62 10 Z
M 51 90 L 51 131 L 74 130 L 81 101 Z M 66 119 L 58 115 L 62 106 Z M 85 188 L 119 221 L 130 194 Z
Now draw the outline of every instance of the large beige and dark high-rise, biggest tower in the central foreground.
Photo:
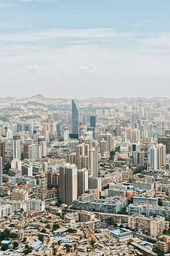
M 67 205 L 77 200 L 77 168 L 74 164 L 59 167 L 59 198 Z

